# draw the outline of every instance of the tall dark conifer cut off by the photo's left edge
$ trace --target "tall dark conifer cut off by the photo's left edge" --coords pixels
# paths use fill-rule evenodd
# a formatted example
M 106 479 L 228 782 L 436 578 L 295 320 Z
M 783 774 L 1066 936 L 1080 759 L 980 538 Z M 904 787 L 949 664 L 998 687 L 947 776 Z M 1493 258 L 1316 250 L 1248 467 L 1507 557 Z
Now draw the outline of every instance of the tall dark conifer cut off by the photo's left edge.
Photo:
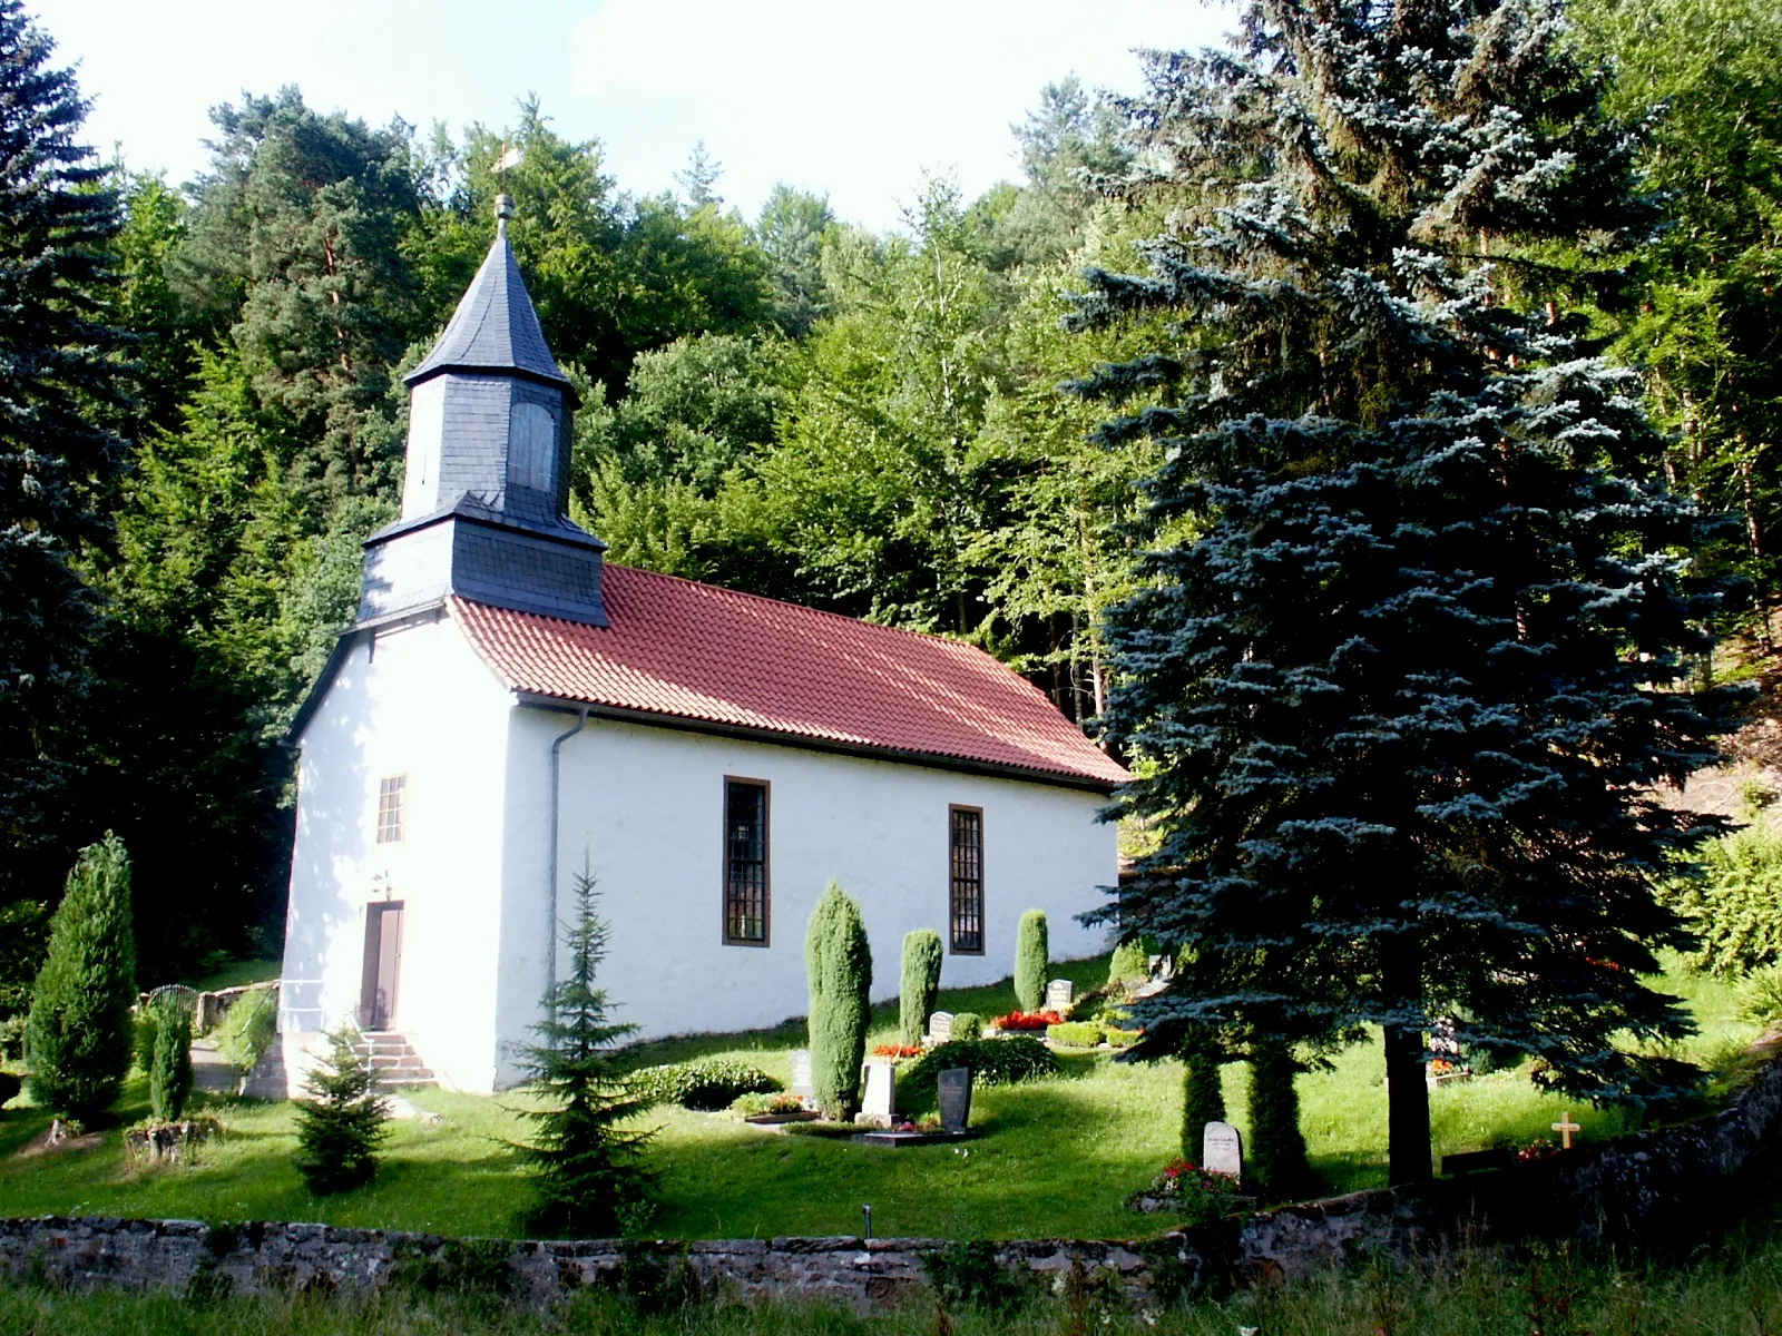
M 118 196 L 75 139 L 87 103 L 52 50 L 21 0 L 0 0 L 0 903 L 66 857 L 100 623 L 80 565 L 125 463 L 107 426 Z

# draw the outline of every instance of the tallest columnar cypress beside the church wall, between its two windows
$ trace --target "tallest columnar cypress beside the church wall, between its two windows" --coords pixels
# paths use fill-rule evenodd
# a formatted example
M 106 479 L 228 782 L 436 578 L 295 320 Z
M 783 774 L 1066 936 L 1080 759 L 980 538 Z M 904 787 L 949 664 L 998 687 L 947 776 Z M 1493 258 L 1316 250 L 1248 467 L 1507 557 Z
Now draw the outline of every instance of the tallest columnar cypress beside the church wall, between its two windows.
M 873 953 L 859 907 L 830 882 L 804 939 L 811 989 L 811 1092 L 829 1119 L 854 1117 L 866 1058 Z

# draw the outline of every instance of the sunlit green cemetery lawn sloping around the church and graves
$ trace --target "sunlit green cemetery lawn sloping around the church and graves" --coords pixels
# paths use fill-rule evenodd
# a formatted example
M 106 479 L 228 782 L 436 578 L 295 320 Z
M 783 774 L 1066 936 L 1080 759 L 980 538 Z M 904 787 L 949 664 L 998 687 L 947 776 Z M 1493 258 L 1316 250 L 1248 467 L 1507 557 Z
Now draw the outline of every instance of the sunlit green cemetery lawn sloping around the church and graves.
M 1057 967 L 1078 985 L 1099 982 L 1107 958 Z M 1664 985 L 1688 998 L 1702 1035 L 1688 1056 L 1725 1065 L 1757 1028 L 1737 1019 L 1736 989 L 1673 969 Z M 985 1017 L 1014 1008 L 1012 989 L 943 992 L 946 1010 Z M 875 1008 L 871 1042 L 893 1042 L 895 1006 Z M 706 1035 L 642 1046 L 640 1065 L 727 1055 L 788 1079 L 788 1055 L 804 1028 Z M 980 1088 L 973 1124 L 984 1135 L 966 1147 L 879 1149 L 748 1128 L 723 1115 L 659 1108 L 650 1163 L 661 1176 L 661 1210 L 650 1226 L 666 1238 L 854 1234 L 861 1204 L 873 1206 L 880 1236 L 939 1238 L 1119 1238 L 1162 1220 L 1132 1215 L 1124 1197 L 1178 1153 L 1181 1108 L 1176 1063 L 1124 1065 L 1105 1051 L 1060 1053 L 1064 1072 L 1030 1085 Z M 1224 1074 L 1233 1122 L 1247 1133 L 1246 1072 Z M 1331 1192 L 1385 1183 L 1386 1094 L 1379 1040 L 1340 1055 L 1331 1071 L 1299 1079 L 1301 1122 L 1313 1167 Z M 422 1090 L 413 1103 L 444 1115 L 433 1129 L 392 1122 L 378 1177 L 340 1197 L 312 1197 L 290 1163 L 289 1104 L 223 1103 L 228 1136 L 185 1169 L 139 1169 L 125 1160 L 116 1129 L 87 1149 L 29 1154 L 48 1119 L 34 1108 L 0 1115 L 0 1215 L 127 1215 L 201 1220 L 317 1220 L 342 1226 L 449 1234 L 515 1234 L 526 1179 L 510 1142 L 526 1135 L 515 1110 L 524 1096 L 494 1099 Z M 1436 1151 L 1529 1144 L 1552 1138 L 1570 1108 L 1584 1138 L 1627 1126 L 1534 1090 L 1525 1072 L 1493 1072 L 1435 1092 Z M 118 1115 L 146 1115 L 141 1079 L 128 1085 Z

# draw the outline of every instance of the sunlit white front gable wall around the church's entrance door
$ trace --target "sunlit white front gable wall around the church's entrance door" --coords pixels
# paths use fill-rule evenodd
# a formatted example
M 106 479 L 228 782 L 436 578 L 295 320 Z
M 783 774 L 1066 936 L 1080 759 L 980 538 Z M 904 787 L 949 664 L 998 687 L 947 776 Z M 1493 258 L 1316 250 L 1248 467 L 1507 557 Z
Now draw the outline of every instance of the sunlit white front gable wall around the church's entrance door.
M 438 1078 L 490 1090 L 508 691 L 449 620 L 362 638 L 308 720 L 298 777 L 280 1030 L 292 1076 L 356 1017 L 365 907 L 403 901 L 392 1026 Z M 376 843 L 378 786 L 406 775 L 405 839 Z

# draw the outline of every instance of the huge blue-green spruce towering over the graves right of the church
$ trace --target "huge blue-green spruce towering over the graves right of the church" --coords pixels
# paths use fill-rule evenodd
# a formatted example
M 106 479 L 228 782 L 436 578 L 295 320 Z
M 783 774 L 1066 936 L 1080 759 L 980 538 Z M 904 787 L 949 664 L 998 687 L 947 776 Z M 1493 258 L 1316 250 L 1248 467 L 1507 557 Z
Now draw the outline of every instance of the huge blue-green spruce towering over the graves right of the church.
M 1140 189 L 1183 214 L 1076 317 L 1176 317 L 1078 387 L 1169 451 L 1108 618 L 1119 809 L 1160 843 L 1108 917 L 1194 949 L 1135 1017 L 1158 1055 L 1383 1026 L 1394 1183 L 1431 1174 L 1433 1015 L 1593 1101 L 1693 1079 L 1634 1046 L 1688 1030 L 1641 978 L 1705 825 L 1650 793 L 1716 755 L 1727 702 L 1677 688 L 1721 590 L 1574 338 L 1648 214 L 1561 34 L 1541 0 L 1249 4 L 1238 50 L 1153 62 Z

